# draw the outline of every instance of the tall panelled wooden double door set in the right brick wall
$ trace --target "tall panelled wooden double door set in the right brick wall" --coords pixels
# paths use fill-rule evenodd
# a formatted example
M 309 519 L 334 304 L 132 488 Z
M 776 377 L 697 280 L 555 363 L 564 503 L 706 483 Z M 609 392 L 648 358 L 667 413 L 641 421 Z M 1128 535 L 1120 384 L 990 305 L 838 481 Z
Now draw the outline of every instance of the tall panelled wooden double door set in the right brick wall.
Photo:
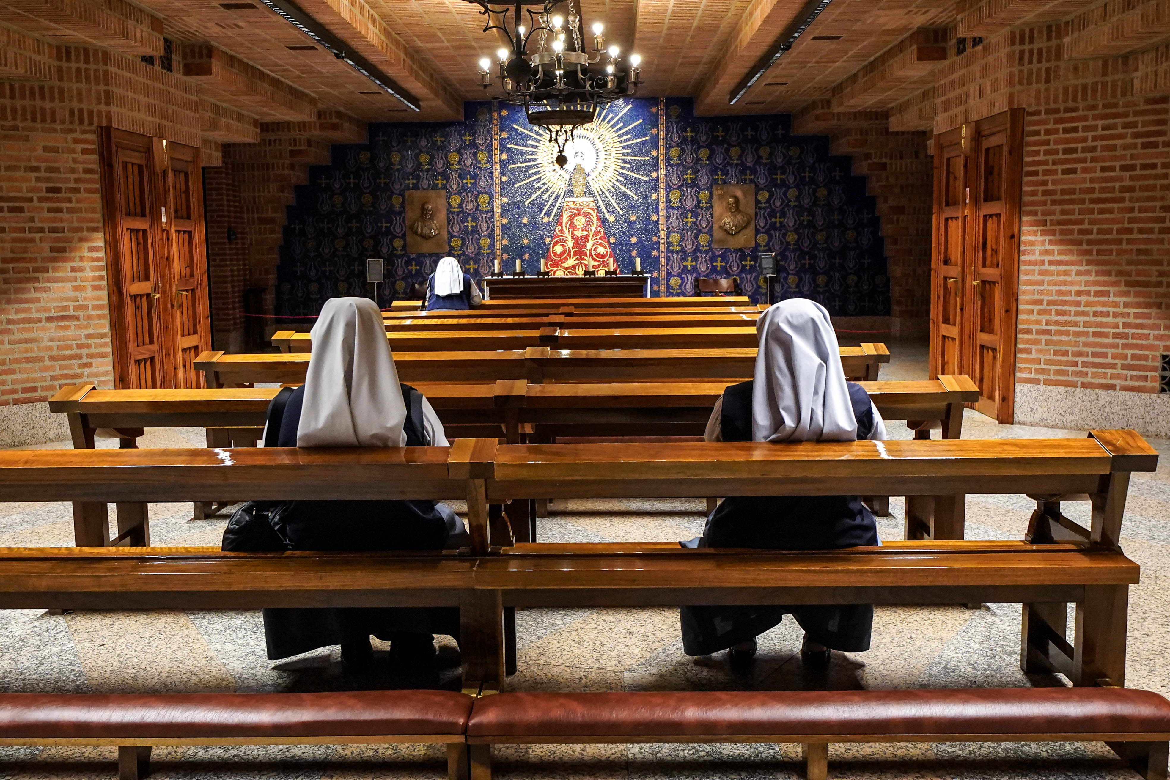
M 931 377 L 966 374 L 975 408 L 1011 422 L 1024 111 L 935 138 Z

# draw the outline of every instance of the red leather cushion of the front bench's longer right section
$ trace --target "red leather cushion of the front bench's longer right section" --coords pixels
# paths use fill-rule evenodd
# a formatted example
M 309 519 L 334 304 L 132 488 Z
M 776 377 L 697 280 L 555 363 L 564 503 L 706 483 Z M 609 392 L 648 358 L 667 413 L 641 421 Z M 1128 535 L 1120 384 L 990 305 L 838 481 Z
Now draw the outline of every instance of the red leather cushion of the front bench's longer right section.
M 1120 688 L 498 693 L 468 737 L 1170 732 L 1170 702 Z M 488 740 L 484 740 L 488 741 Z

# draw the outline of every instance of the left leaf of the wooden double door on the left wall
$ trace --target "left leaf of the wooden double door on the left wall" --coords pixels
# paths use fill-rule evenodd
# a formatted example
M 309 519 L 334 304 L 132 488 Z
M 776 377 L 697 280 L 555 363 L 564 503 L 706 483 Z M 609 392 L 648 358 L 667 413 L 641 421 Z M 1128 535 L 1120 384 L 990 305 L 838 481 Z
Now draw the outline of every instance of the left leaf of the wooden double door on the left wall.
M 170 387 L 159 312 L 160 213 L 152 141 L 113 127 L 98 127 L 98 132 L 115 385 Z

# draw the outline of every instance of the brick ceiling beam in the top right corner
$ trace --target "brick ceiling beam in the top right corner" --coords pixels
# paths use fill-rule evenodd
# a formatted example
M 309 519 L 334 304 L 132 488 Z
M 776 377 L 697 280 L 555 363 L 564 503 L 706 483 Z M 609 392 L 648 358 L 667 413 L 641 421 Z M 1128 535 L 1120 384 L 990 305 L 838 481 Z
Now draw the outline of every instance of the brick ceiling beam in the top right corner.
M 1066 60 L 1110 57 L 1170 40 L 1170 0 L 1108 0 L 1073 16 Z

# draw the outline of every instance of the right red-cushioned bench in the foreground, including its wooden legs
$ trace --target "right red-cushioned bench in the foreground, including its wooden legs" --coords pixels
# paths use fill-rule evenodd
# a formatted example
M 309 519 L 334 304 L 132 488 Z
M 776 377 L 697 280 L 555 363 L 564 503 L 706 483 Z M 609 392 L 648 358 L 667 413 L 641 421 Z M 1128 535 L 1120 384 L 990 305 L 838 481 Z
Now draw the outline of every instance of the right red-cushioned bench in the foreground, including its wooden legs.
M 799 743 L 825 780 L 830 743 L 1106 741 L 1165 780 L 1170 702 L 1123 688 L 896 691 L 498 693 L 475 699 L 472 780 L 491 745 Z

